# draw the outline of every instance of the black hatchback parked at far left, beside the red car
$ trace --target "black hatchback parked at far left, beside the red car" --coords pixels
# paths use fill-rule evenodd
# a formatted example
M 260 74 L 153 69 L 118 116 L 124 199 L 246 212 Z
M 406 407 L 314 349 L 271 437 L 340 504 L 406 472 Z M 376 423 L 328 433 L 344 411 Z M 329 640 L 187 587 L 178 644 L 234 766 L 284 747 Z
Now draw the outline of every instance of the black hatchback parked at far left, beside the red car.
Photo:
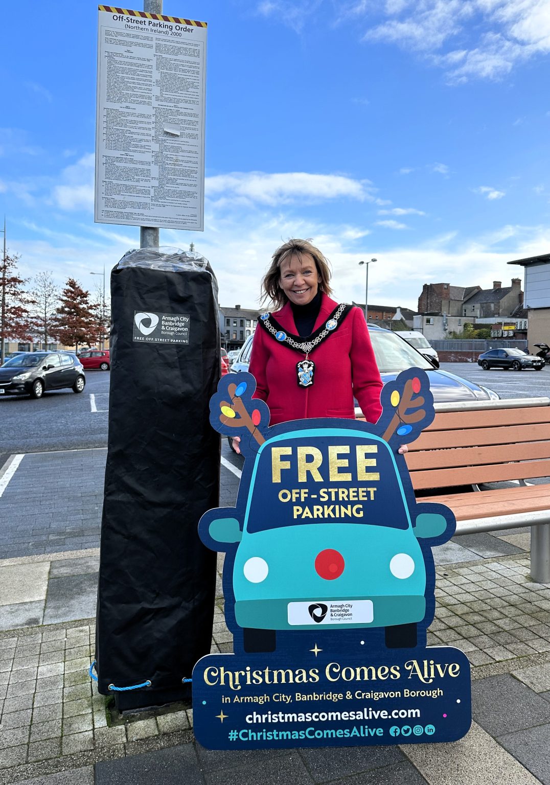
M 0 367 L 0 396 L 27 393 L 42 398 L 47 390 L 70 387 L 82 392 L 84 385 L 84 368 L 68 352 L 24 352 Z

